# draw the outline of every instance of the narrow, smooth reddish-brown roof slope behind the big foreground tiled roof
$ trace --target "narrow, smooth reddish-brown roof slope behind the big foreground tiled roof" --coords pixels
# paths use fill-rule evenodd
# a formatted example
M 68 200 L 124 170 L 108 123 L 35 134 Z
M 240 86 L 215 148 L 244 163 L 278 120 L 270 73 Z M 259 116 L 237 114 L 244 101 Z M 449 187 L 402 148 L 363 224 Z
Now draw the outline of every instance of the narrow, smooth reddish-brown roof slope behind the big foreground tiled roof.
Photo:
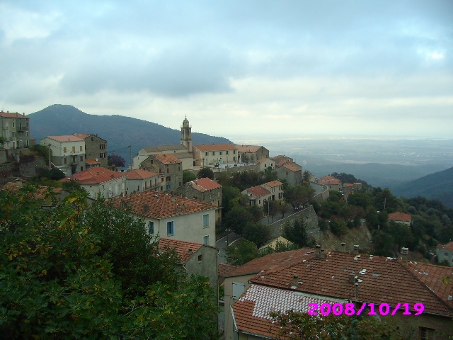
M 317 256 L 314 249 L 301 248 L 282 253 L 269 254 L 258 259 L 247 262 L 243 266 L 229 273 L 228 276 L 242 276 L 268 271 L 275 271 L 280 268 L 285 268 L 300 261 L 308 261 L 312 257 Z

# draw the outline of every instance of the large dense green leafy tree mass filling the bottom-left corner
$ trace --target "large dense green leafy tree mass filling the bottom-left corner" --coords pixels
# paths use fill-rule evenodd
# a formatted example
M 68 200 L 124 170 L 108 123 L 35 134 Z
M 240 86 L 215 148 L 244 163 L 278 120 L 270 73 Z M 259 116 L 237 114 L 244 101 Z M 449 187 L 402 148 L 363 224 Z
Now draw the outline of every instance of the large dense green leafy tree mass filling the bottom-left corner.
M 86 193 L 0 191 L 0 334 L 9 339 L 210 339 L 215 295 L 183 280 L 142 220 Z M 52 209 L 48 207 L 52 203 Z M 145 277 L 146 276 L 146 277 Z M 147 276 L 150 276 L 147 277 Z

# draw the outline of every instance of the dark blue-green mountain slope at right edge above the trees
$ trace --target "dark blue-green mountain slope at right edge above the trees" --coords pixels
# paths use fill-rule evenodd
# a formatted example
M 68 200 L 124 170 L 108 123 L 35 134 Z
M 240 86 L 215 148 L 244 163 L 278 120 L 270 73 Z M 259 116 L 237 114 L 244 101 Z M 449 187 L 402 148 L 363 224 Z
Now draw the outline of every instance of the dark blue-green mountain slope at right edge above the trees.
M 395 196 L 407 198 L 424 196 L 433 200 L 440 200 L 448 208 L 453 208 L 453 168 L 396 186 L 392 193 Z

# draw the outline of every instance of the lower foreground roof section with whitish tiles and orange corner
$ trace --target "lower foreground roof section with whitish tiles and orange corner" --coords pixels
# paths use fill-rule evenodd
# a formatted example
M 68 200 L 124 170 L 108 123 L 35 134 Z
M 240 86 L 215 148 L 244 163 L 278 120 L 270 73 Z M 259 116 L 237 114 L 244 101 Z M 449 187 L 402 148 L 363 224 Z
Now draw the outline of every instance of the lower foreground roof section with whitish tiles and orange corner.
M 345 304 L 348 300 L 321 298 L 291 290 L 252 284 L 232 308 L 239 331 L 275 339 L 275 331 L 279 329 L 279 326 L 269 316 L 270 312 L 287 312 L 287 310 L 308 312 L 311 309 L 310 303 L 333 305 L 336 302 Z

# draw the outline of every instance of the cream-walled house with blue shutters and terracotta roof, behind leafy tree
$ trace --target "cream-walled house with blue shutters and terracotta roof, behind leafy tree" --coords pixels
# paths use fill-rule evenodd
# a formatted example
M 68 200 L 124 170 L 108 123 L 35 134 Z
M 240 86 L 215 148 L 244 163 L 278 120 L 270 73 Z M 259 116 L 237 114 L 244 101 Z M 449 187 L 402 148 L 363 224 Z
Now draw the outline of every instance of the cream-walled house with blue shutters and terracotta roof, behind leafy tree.
M 113 200 L 115 208 L 130 206 L 144 219 L 150 234 L 181 241 L 215 245 L 214 205 L 160 191 L 132 193 Z

